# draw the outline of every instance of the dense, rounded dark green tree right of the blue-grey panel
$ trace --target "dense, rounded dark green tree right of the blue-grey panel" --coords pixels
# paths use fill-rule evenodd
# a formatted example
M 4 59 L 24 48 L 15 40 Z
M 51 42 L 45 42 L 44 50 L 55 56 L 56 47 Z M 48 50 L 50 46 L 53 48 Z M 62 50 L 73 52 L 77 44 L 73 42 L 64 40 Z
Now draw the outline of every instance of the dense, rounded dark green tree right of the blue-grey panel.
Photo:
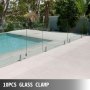
M 74 0 L 57 1 L 56 13 L 59 14 L 57 24 L 60 31 L 67 31 L 68 28 L 73 28 L 80 16 L 80 12 Z

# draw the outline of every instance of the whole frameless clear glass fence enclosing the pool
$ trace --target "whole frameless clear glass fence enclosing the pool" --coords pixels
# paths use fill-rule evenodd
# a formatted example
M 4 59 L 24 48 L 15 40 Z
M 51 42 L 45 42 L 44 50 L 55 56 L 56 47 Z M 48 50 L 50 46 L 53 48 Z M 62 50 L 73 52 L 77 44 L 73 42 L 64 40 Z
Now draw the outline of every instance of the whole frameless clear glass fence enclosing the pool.
M 14 22 L 0 33 L 0 67 L 22 61 L 82 38 L 83 31 L 46 29 L 43 23 Z

